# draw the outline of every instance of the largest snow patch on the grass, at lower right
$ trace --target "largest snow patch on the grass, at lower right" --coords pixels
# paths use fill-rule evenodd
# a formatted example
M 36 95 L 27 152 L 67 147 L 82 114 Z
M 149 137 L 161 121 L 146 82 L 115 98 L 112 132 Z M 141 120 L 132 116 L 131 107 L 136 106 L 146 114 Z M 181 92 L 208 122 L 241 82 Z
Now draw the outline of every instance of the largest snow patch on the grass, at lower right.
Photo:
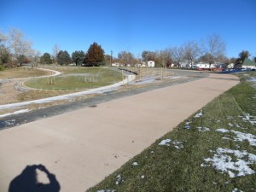
M 230 154 L 236 156 L 236 158 L 232 159 Z M 202 163 L 201 166 L 213 166 L 222 173 L 228 173 L 230 177 L 241 177 L 255 173 L 248 165 L 256 162 L 256 155 L 249 154 L 246 150 L 218 148 L 212 158 L 204 160 L 205 163 Z

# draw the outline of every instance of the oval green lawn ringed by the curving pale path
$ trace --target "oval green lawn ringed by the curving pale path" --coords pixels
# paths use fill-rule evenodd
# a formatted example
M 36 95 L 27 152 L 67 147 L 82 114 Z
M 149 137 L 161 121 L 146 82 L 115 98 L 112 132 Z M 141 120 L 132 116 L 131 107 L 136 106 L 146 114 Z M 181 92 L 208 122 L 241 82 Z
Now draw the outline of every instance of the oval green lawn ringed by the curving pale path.
M 87 90 L 122 80 L 121 73 L 107 68 L 66 69 L 62 73 L 55 78 L 31 79 L 25 85 L 40 90 Z

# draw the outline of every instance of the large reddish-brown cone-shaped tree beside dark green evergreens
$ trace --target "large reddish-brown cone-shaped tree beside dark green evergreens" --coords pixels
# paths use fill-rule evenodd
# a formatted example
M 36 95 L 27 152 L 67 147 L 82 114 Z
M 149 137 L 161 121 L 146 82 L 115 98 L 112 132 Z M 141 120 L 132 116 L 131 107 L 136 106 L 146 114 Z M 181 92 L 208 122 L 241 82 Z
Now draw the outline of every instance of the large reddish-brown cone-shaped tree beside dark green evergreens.
M 102 46 L 97 43 L 91 44 L 85 55 L 84 61 L 90 66 L 102 65 L 102 61 L 104 61 L 104 50 L 102 49 Z

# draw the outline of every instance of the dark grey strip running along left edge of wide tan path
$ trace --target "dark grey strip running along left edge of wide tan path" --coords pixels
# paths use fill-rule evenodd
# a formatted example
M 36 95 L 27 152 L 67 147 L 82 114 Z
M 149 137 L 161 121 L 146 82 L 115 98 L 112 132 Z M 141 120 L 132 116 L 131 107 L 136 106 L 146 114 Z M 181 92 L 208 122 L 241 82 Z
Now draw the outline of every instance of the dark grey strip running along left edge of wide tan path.
M 125 72 L 127 73 L 127 72 Z M 199 73 L 195 71 L 186 71 L 186 70 L 172 70 L 173 77 L 179 77 L 175 82 L 166 82 L 161 84 L 150 84 L 143 88 L 126 90 L 119 92 L 118 90 L 106 91 L 100 95 L 86 98 L 83 100 L 75 102 L 67 102 L 64 104 L 59 104 L 55 106 L 50 106 L 48 108 L 38 108 L 26 113 L 12 114 L 3 118 L 0 118 L 0 131 L 7 128 L 12 128 L 17 125 L 23 125 L 38 119 L 45 119 L 51 116 L 55 116 L 61 113 L 71 112 L 80 108 L 90 108 L 96 106 L 102 102 L 109 102 L 115 99 L 123 98 L 125 96 L 133 96 L 139 93 L 147 92 L 150 90 L 156 90 L 164 88 L 166 86 L 172 86 L 175 84 L 183 84 L 189 81 L 194 81 L 208 76 L 207 73 Z M 130 73 L 127 73 L 127 75 Z M 131 84 L 132 85 L 132 84 Z M 18 109 L 17 109 L 18 110 Z

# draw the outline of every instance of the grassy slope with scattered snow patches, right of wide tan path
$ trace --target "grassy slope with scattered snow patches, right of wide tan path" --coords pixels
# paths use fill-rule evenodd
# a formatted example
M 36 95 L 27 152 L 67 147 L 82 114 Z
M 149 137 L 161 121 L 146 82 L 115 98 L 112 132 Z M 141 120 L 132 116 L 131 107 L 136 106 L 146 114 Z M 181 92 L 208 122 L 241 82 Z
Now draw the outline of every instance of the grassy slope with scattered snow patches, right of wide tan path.
M 256 116 L 247 81 L 256 73 L 239 76 L 240 84 L 88 191 L 256 191 L 256 126 L 247 117 Z

